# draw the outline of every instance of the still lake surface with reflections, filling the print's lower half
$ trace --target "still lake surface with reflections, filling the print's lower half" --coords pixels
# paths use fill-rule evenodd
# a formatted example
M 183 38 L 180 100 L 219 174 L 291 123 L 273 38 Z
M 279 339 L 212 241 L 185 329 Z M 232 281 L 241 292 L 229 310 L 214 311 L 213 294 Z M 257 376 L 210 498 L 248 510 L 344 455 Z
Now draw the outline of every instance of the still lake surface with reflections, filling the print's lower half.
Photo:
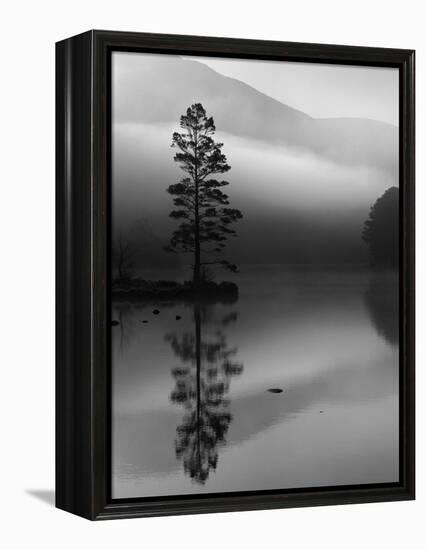
M 397 276 L 235 281 L 233 303 L 114 302 L 113 498 L 397 481 Z

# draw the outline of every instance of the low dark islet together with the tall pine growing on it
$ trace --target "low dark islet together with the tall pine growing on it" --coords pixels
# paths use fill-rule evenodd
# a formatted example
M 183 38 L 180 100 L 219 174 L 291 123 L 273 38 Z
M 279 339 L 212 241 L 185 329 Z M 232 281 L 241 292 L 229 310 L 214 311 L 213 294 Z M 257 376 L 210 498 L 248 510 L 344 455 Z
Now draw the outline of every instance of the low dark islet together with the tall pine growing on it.
M 231 227 L 242 218 L 242 212 L 229 207 L 229 197 L 222 191 L 228 181 L 217 180 L 217 174 L 230 170 L 223 143 L 217 143 L 214 119 L 207 116 L 201 103 L 191 105 L 180 117 L 182 132 L 174 132 L 171 146 L 177 149 L 174 161 L 184 172 L 180 180 L 167 188 L 173 197 L 170 217 L 179 222 L 165 251 L 191 258 L 191 281 L 149 281 L 133 277 L 129 243 L 115 243 L 116 277 L 112 284 L 114 298 L 201 299 L 232 302 L 238 298 L 235 283 L 212 280 L 212 266 L 233 273 L 237 266 L 222 257 L 229 237 L 236 236 Z M 189 260 L 190 261 L 190 260 Z

